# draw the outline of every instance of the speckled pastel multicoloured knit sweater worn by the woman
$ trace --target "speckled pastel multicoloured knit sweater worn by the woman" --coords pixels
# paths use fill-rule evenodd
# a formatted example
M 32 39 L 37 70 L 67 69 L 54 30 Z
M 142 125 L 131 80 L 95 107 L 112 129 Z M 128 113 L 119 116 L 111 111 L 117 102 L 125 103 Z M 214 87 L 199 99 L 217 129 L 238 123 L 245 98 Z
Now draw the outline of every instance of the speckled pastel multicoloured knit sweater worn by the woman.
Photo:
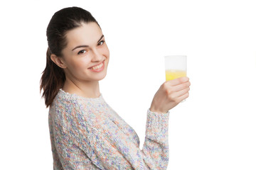
M 169 112 L 146 115 L 141 150 L 137 133 L 102 94 L 84 98 L 60 89 L 48 117 L 53 169 L 167 169 Z

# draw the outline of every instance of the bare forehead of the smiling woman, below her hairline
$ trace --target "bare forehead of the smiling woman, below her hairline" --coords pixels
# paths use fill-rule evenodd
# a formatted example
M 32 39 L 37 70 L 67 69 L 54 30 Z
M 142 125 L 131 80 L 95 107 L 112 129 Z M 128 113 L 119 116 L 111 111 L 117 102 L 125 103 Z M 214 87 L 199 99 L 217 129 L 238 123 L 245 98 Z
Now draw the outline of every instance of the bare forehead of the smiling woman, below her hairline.
M 82 26 L 69 30 L 65 35 L 68 47 L 95 45 L 101 36 L 102 30 L 97 23 L 82 23 Z

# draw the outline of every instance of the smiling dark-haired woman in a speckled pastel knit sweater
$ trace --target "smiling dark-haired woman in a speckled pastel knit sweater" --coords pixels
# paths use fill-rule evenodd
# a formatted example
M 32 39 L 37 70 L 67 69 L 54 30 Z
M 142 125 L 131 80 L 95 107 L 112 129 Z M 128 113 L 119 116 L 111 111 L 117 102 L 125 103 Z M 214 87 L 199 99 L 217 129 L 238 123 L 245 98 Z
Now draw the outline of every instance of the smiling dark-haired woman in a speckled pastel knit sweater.
M 47 28 L 41 90 L 49 109 L 53 169 L 167 169 L 169 110 L 188 97 L 187 77 L 166 81 L 139 137 L 100 94 L 110 52 L 102 30 L 82 8 L 56 12 Z

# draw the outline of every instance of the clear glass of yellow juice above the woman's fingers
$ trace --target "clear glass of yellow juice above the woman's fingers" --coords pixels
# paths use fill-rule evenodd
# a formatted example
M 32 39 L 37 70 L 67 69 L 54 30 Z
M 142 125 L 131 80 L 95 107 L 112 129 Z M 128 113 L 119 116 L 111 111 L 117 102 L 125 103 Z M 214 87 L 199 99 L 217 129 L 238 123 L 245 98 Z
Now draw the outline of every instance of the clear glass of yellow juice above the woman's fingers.
M 166 81 L 186 77 L 186 55 L 168 55 L 164 57 Z

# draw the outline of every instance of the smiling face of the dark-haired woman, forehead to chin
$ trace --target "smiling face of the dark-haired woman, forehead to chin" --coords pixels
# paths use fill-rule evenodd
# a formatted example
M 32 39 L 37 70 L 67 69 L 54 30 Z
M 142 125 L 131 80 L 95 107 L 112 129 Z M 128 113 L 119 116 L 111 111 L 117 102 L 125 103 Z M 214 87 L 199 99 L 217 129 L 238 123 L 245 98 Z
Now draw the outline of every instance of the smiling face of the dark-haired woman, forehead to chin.
M 62 52 L 66 77 L 86 82 L 104 79 L 110 52 L 97 23 L 82 23 L 65 36 L 68 45 Z

